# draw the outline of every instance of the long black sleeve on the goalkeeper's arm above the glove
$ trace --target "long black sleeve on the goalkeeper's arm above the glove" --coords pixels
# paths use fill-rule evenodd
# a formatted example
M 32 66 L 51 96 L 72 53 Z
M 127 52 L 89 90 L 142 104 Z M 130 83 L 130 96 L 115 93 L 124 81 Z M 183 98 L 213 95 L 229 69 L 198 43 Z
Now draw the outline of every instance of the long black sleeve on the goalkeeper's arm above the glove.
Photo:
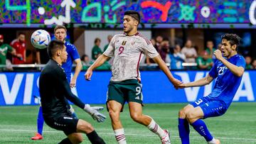
M 80 99 L 78 99 L 78 97 L 75 96 L 75 94 L 71 92 L 70 86 L 68 84 L 68 80 L 65 77 L 65 72 L 58 70 L 58 74 L 55 74 L 55 75 L 58 76 L 60 87 L 62 87 L 65 97 L 69 101 L 73 102 L 73 104 L 75 104 L 76 106 L 80 107 L 81 109 L 84 109 L 85 104 Z

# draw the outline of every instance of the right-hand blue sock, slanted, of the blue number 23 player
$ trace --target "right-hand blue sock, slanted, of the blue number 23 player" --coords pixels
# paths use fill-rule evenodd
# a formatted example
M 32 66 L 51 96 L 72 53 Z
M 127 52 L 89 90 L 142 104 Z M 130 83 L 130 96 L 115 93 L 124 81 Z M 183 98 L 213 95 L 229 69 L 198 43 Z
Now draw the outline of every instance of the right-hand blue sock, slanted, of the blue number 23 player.
M 210 131 L 208 131 L 206 123 L 204 123 L 201 119 L 198 119 L 192 123 L 191 126 L 193 126 L 193 128 L 206 139 L 206 141 L 213 140 L 213 136 L 210 134 Z

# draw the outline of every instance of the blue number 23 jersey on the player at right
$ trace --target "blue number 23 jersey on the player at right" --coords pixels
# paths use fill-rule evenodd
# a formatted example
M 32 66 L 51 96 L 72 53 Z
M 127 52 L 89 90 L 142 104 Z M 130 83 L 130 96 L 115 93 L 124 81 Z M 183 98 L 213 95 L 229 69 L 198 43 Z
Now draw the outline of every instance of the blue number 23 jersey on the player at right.
M 245 59 L 241 55 L 234 55 L 226 60 L 233 65 L 245 68 Z M 230 72 L 228 67 L 219 60 L 215 62 L 209 75 L 210 77 L 216 78 L 216 81 L 213 92 L 211 92 L 208 97 L 210 99 L 223 101 L 228 108 L 233 101 L 235 93 L 238 91 L 242 77 L 235 76 L 235 74 Z

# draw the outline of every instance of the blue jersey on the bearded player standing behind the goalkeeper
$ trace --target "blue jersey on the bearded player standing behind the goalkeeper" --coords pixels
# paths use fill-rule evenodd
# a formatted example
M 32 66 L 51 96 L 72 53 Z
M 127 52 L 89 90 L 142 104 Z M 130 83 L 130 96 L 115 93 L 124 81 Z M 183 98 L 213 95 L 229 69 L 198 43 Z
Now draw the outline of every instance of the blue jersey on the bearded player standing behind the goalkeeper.
M 78 54 L 78 50 L 75 48 L 75 45 L 65 42 L 65 47 L 68 52 L 68 59 L 67 62 L 63 63 L 62 67 L 65 70 L 68 83 L 70 83 L 73 61 L 79 59 L 80 55 Z

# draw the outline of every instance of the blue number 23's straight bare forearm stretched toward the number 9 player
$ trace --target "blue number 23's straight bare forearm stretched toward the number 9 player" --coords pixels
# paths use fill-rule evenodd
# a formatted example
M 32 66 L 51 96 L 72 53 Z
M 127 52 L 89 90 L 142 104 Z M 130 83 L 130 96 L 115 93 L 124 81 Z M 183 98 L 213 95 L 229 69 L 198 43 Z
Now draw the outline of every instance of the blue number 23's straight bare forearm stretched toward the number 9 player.
M 179 84 L 178 88 L 185 88 L 185 87 L 200 87 L 200 86 L 204 86 L 206 84 L 210 84 L 210 82 L 213 81 L 213 77 L 210 77 L 210 75 L 208 74 L 206 77 L 203 77 L 202 79 L 198 79 L 195 82 L 188 82 L 185 84 Z

